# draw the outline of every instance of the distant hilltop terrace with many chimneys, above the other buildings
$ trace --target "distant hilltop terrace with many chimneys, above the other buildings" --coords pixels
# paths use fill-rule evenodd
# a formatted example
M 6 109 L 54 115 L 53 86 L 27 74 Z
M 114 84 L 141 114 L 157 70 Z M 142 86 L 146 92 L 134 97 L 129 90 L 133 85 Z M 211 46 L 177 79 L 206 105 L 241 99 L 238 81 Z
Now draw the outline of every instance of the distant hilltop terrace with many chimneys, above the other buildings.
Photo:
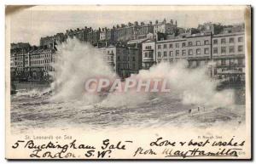
M 163 20 L 158 23 L 156 20 L 155 25 L 152 21 L 148 24 L 141 22 L 140 25 L 137 21 L 133 24 L 129 22 L 127 25 L 121 24 L 113 26 L 112 29 L 107 27 L 99 28 L 98 30 L 91 27 L 84 26 L 82 29 L 70 29 L 65 33 L 57 33 L 54 36 L 41 37 L 40 46 L 48 46 L 49 44 L 57 44 L 58 42 L 65 42 L 68 37 L 76 37 L 79 41 L 90 42 L 93 46 L 104 47 L 114 42 L 128 42 L 130 40 L 144 39 L 148 37 L 148 34 L 152 34 L 154 38 L 166 35 L 177 35 L 177 33 L 183 32 L 182 28 L 177 27 L 177 21 L 174 24 L 173 20 L 166 22 Z

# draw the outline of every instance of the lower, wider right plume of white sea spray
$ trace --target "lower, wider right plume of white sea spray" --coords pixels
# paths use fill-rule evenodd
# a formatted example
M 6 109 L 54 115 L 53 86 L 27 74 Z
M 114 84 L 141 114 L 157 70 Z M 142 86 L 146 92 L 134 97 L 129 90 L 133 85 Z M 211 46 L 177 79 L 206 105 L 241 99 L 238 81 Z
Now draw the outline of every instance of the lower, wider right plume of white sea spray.
M 209 105 L 212 107 L 234 104 L 233 90 L 217 91 L 218 80 L 207 75 L 208 66 L 188 68 L 186 60 L 177 63 L 163 62 L 148 71 L 140 71 L 137 78 L 166 78 L 171 89 L 170 97 L 182 99 L 185 105 Z M 172 95 L 172 96 L 171 96 Z M 159 94 L 161 96 L 161 94 Z

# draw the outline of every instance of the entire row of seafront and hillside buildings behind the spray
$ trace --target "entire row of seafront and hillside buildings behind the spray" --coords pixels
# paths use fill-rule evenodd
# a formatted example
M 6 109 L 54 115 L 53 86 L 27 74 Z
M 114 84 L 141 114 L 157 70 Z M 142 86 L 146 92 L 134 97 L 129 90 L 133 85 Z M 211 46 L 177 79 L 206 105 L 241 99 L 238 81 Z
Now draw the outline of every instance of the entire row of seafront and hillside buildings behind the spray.
M 39 46 L 12 43 L 10 67 L 13 79 L 47 80 L 54 71 L 56 44 L 76 37 L 90 42 L 106 54 L 104 59 L 121 77 L 131 76 L 141 69 L 149 69 L 160 62 L 185 59 L 189 68 L 212 62 L 210 76 L 244 76 L 244 25 L 204 23 L 197 28 L 183 29 L 177 21 L 148 23 L 135 21 L 113 28 L 67 30 L 50 37 L 41 37 Z M 25 78 L 26 76 L 26 78 Z M 19 78 L 18 78 L 19 77 Z

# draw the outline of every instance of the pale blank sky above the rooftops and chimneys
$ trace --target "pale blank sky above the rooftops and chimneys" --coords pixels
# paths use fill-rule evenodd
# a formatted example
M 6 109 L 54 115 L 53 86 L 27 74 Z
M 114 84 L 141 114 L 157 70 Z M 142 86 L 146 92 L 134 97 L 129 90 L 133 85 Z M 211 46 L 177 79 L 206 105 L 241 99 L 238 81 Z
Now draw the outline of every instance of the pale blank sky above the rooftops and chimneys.
M 197 27 L 204 22 L 224 25 L 244 22 L 245 8 L 242 6 L 36 6 L 9 12 L 6 25 L 10 42 L 30 42 L 38 45 L 40 37 L 55 35 L 67 29 L 83 28 L 85 25 L 97 29 L 111 28 L 150 20 L 177 20 L 177 26 Z

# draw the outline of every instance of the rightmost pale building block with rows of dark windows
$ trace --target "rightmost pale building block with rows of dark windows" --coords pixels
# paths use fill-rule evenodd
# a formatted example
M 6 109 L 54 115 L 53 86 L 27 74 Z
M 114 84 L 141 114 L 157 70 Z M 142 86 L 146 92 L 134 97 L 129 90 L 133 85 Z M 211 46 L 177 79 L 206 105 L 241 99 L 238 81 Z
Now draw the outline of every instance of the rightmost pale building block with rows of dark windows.
M 212 76 L 224 71 L 245 73 L 245 33 L 223 33 L 212 36 L 212 60 L 216 63 Z

